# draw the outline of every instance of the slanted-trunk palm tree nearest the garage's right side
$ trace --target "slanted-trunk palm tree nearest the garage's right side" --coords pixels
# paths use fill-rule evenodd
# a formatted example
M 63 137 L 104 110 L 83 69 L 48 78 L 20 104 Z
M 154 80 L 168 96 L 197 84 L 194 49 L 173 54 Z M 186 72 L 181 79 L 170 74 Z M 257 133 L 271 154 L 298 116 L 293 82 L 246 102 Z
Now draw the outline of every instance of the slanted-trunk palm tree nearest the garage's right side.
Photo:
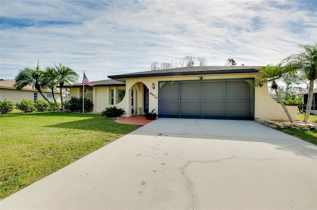
M 285 73 L 285 69 L 283 67 L 281 67 L 280 65 L 277 66 L 270 66 L 267 65 L 265 67 L 262 67 L 259 70 L 259 75 L 256 75 L 258 77 L 260 77 L 259 80 L 256 80 L 253 88 L 257 87 L 257 86 L 262 86 L 264 83 L 267 82 L 271 82 L 271 88 L 275 90 L 275 93 L 277 95 L 278 101 L 280 102 L 280 104 L 282 105 L 288 119 L 290 122 L 293 122 L 293 119 L 291 117 L 291 115 L 289 114 L 285 104 L 283 103 L 283 101 L 281 100 L 281 95 L 278 92 L 278 85 L 277 85 L 277 81 L 283 76 L 283 74 Z

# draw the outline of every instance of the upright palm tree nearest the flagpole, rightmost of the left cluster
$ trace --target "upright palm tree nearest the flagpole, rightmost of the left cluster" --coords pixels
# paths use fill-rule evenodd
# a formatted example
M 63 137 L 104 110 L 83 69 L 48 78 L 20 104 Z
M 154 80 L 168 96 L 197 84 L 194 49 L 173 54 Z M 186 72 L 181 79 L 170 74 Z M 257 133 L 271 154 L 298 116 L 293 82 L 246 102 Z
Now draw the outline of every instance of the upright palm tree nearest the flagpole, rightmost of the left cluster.
M 76 83 L 78 81 L 79 75 L 74 70 L 63 66 L 61 63 L 59 63 L 58 66 L 56 64 L 54 65 L 54 69 L 56 71 L 56 81 L 59 84 L 60 88 L 60 110 L 63 110 L 62 88 L 65 84 Z

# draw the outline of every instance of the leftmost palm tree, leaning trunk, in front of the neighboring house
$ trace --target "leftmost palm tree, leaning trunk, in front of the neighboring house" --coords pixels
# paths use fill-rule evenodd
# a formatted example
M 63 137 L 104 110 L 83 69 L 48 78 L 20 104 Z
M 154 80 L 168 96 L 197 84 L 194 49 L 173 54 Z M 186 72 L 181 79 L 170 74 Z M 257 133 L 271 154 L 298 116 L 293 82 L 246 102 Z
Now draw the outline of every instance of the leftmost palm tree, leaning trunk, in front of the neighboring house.
M 15 77 L 15 84 L 13 84 L 13 86 L 17 90 L 21 90 L 26 85 L 32 85 L 33 88 L 35 87 L 42 97 L 50 103 L 49 99 L 47 99 L 47 97 L 45 97 L 42 93 L 42 90 L 46 88 L 47 82 L 48 80 L 45 77 L 44 72 L 40 69 L 38 62 L 38 66 L 35 69 L 25 68 L 20 70 L 18 75 Z

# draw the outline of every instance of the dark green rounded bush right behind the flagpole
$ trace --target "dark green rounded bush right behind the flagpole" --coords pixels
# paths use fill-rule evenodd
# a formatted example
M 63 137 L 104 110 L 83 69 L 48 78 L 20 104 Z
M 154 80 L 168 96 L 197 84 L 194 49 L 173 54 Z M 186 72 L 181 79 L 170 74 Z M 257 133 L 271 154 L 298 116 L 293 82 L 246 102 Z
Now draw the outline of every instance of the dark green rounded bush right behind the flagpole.
M 69 101 L 63 103 L 66 111 L 69 112 L 81 112 L 83 110 L 83 98 L 77 98 L 72 96 Z M 84 101 L 85 112 L 91 112 L 93 110 L 94 104 L 89 98 L 85 98 Z

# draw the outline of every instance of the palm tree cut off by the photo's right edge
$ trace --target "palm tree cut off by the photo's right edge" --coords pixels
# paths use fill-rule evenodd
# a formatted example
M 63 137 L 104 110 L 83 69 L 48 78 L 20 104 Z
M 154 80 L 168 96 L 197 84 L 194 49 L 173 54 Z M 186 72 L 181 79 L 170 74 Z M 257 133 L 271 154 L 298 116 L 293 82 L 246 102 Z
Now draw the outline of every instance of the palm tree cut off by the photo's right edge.
M 299 46 L 303 49 L 302 53 L 290 55 L 282 62 L 286 64 L 285 67 L 287 69 L 290 71 L 300 72 L 300 75 L 310 81 L 306 113 L 303 120 L 304 122 L 307 122 L 309 115 L 311 114 L 313 104 L 314 82 L 317 79 L 317 43 Z

